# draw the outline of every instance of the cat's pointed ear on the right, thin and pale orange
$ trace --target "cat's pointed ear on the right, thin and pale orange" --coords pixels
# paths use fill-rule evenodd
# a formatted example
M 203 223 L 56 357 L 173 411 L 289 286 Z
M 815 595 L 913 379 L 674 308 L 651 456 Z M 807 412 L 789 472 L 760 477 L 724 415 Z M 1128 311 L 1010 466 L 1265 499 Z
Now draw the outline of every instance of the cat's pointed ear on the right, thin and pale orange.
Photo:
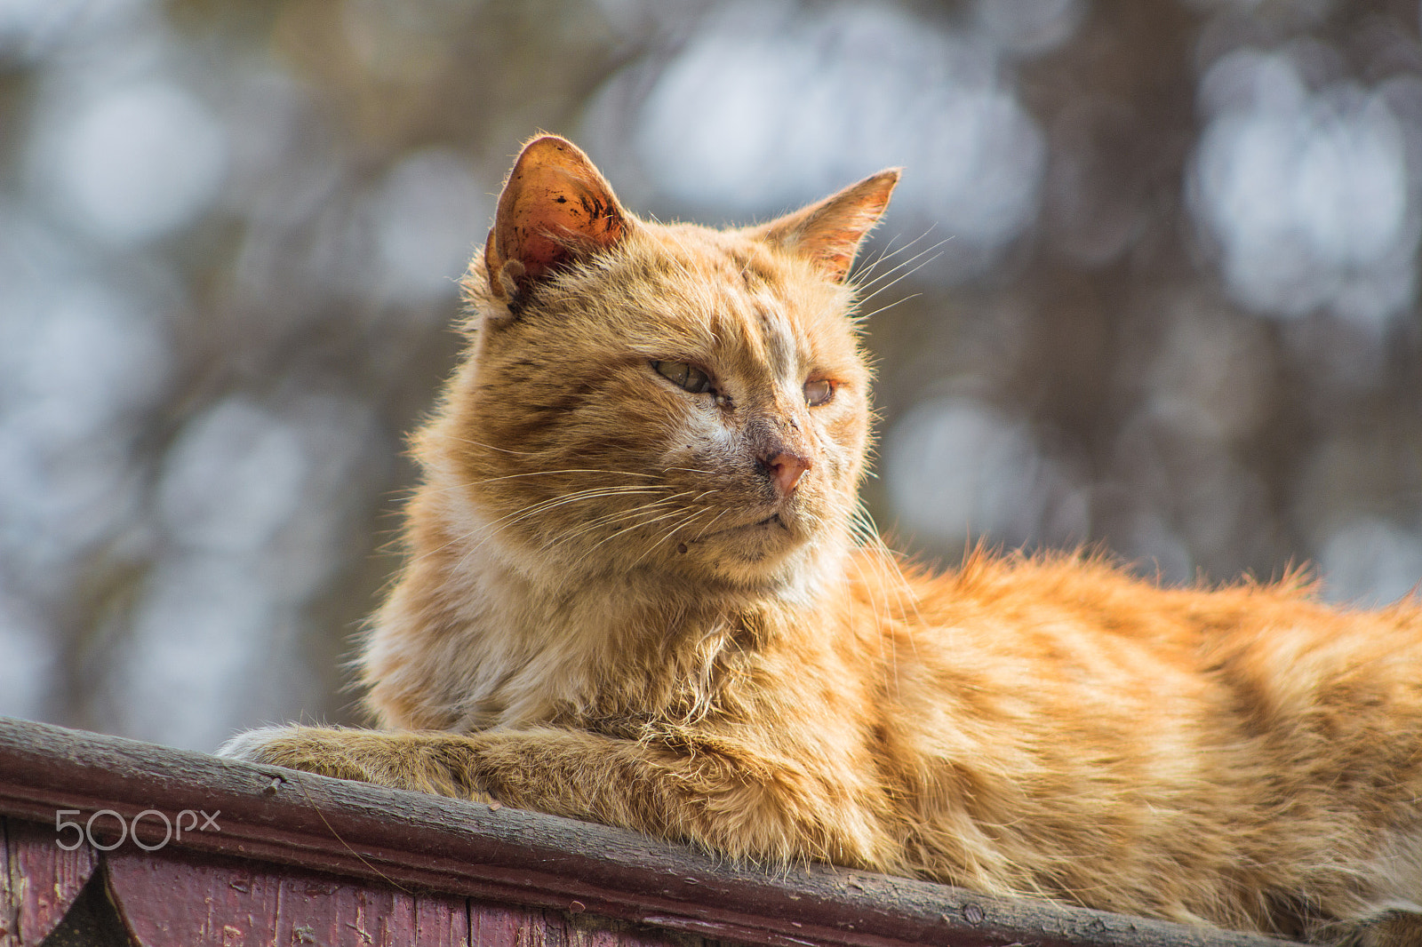
M 886 168 L 748 233 L 809 257 L 829 279 L 843 283 L 865 235 L 889 206 L 899 173 L 899 168 Z

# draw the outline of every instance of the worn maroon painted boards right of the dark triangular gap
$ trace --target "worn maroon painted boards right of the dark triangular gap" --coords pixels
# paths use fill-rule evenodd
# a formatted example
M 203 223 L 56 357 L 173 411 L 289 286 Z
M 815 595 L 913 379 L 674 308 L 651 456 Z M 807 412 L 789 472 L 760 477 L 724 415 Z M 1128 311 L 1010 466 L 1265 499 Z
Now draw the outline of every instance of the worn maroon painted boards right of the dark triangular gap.
M 189 853 L 107 857 L 119 914 L 141 947 L 466 947 L 462 897 Z

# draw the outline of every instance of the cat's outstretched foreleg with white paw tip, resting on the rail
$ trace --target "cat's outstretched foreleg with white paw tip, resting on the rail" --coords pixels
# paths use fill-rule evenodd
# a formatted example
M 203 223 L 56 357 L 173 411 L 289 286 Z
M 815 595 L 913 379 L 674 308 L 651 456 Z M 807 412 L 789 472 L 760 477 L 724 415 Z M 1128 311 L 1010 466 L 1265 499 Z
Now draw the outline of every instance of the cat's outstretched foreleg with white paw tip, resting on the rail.
M 449 734 L 283 727 L 223 755 L 398 789 L 488 799 L 636 829 L 757 862 L 894 870 L 882 799 L 735 741 L 631 741 L 586 731 Z M 485 795 L 486 793 L 486 795 Z

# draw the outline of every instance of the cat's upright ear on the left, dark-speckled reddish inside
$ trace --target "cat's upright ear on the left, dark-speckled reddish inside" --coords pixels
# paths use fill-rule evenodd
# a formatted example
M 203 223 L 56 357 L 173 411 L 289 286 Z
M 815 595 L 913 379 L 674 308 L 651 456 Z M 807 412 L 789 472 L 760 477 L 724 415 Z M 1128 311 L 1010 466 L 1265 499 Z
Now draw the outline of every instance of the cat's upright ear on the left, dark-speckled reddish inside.
M 483 246 L 489 289 L 516 307 L 532 284 L 616 245 L 629 226 L 611 185 L 577 145 L 557 135 L 535 138 L 503 182 Z

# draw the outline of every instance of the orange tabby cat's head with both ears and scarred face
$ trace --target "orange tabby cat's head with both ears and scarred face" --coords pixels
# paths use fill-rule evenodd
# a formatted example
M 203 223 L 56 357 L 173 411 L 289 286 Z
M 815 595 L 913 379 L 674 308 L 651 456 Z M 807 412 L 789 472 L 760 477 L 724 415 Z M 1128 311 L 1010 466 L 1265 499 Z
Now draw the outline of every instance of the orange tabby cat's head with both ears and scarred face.
M 869 380 L 846 282 L 883 171 L 738 230 L 634 218 L 573 144 L 519 155 L 419 452 L 530 574 L 759 590 L 849 542 Z

